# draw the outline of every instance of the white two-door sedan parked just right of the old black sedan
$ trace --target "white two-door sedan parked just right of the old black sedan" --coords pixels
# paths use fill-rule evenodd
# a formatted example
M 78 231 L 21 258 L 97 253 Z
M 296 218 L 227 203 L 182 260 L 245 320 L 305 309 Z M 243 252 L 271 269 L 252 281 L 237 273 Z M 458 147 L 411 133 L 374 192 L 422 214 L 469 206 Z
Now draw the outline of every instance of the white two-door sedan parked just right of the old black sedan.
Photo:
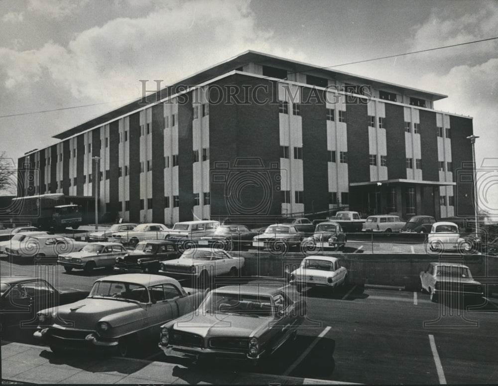
M 221 249 L 194 248 L 186 250 L 176 260 L 161 261 L 159 273 L 178 279 L 198 281 L 206 287 L 212 276 L 239 276 L 244 257 L 232 257 Z

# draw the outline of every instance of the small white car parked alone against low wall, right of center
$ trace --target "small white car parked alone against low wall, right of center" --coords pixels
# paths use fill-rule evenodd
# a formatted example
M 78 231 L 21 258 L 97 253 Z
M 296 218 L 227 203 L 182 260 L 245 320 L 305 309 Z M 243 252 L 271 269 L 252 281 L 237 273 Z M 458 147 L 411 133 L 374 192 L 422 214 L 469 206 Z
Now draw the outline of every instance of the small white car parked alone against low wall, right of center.
M 347 282 L 348 270 L 341 266 L 337 257 L 308 256 L 299 268 L 291 272 L 290 284 L 301 292 L 305 287 L 329 287 L 332 291 Z

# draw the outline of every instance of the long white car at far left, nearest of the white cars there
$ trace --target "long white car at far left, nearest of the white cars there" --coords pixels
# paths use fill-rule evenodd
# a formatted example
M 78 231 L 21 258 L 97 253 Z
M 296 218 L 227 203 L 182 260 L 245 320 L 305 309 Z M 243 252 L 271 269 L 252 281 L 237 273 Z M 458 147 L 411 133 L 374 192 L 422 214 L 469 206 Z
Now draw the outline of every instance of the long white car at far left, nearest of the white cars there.
M 61 254 L 79 251 L 88 243 L 58 235 L 27 236 L 21 242 L 12 243 L 5 253 L 13 258 L 58 257 Z

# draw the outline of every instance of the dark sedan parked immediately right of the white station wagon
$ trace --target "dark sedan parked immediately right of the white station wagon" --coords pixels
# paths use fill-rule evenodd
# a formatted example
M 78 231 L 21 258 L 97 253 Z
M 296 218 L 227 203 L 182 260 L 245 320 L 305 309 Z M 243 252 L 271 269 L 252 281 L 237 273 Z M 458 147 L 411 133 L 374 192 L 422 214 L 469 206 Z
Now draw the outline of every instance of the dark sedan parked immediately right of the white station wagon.
M 252 238 L 257 234 L 257 232 L 250 231 L 245 225 L 220 225 L 214 232 L 198 239 L 197 245 L 200 247 L 220 248 L 229 252 L 234 248 L 240 251 L 242 246 L 250 246 Z

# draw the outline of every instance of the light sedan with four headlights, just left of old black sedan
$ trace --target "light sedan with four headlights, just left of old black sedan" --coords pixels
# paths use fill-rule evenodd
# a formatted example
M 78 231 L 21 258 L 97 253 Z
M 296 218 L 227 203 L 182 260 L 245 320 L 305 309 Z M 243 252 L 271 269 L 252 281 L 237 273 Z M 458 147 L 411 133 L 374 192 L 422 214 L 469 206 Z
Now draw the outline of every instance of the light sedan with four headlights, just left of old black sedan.
M 62 265 L 66 272 L 83 269 L 85 273 L 90 273 L 94 268 L 102 267 L 112 269 L 116 259 L 127 252 L 119 243 L 90 243 L 81 251 L 59 255 L 59 265 Z

